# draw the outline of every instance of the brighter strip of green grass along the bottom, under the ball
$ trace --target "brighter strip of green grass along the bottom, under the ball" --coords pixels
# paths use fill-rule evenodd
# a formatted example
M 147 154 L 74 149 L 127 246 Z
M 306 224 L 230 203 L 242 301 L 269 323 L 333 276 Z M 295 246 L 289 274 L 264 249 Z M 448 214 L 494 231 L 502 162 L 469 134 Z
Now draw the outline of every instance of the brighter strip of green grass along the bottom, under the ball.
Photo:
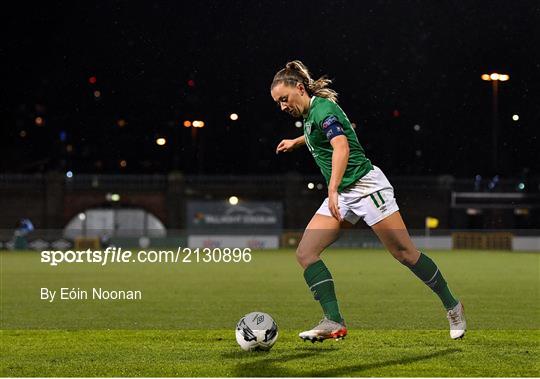
M 246 353 L 230 329 L 9 331 L 4 376 L 538 376 L 538 332 L 352 330 L 313 345 L 283 330 Z

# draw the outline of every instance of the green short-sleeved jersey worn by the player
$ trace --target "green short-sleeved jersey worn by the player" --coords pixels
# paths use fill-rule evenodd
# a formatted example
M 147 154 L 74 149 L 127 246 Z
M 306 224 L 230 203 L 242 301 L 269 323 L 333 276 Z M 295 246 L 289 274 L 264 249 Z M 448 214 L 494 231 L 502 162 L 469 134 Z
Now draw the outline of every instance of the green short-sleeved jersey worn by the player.
M 338 188 L 338 192 L 341 192 L 371 171 L 373 165 L 366 158 L 351 122 L 340 106 L 332 100 L 314 96 L 311 99 L 309 113 L 304 119 L 304 136 L 309 151 L 326 179 L 326 184 L 329 184 L 332 175 L 334 149 L 327 137 L 327 133 L 332 133 L 332 131 L 325 129 L 333 122 L 341 124 L 343 134 L 349 142 L 349 161 Z

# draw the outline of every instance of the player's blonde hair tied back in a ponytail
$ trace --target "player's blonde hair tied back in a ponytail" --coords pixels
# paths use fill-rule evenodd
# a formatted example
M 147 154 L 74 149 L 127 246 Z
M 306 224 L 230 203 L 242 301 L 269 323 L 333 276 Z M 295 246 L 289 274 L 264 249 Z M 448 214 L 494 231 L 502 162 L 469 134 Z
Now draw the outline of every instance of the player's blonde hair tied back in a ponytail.
M 279 70 L 274 76 L 270 90 L 283 83 L 288 86 L 295 86 L 297 83 L 302 83 L 306 88 L 308 95 L 324 97 L 337 102 L 338 94 L 333 89 L 328 88 L 332 80 L 326 76 L 321 76 L 317 80 L 311 78 L 308 68 L 299 60 L 287 62 L 285 68 Z

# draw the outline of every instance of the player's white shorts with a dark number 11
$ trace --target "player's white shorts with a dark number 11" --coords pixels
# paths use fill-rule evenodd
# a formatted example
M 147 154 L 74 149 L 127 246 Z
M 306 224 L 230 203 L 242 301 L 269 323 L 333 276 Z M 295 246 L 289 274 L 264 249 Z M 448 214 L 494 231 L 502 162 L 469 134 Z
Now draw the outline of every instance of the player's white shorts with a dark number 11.
M 344 220 L 356 224 L 363 219 L 368 226 L 399 210 L 394 198 L 394 188 L 376 166 L 355 184 L 340 192 L 338 204 L 339 213 Z M 332 216 L 328 209 L 328 198 L 324 199 L 316 213 Z

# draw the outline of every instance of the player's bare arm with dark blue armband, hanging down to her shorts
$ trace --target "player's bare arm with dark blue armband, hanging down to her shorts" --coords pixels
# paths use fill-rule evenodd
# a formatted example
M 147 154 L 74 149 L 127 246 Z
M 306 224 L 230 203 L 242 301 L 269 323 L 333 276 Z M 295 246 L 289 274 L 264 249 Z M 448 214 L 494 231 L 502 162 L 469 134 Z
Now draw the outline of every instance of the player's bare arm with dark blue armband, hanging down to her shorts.
M 338 205 L 338 188 L 349 161 L 349 141 L 343 125 L 336 116 L 326 117 L 322 123 L 323 132 L 332 145 L 332 175 L 328 183 L 328 208 L 338 221 L 342 221 Z

